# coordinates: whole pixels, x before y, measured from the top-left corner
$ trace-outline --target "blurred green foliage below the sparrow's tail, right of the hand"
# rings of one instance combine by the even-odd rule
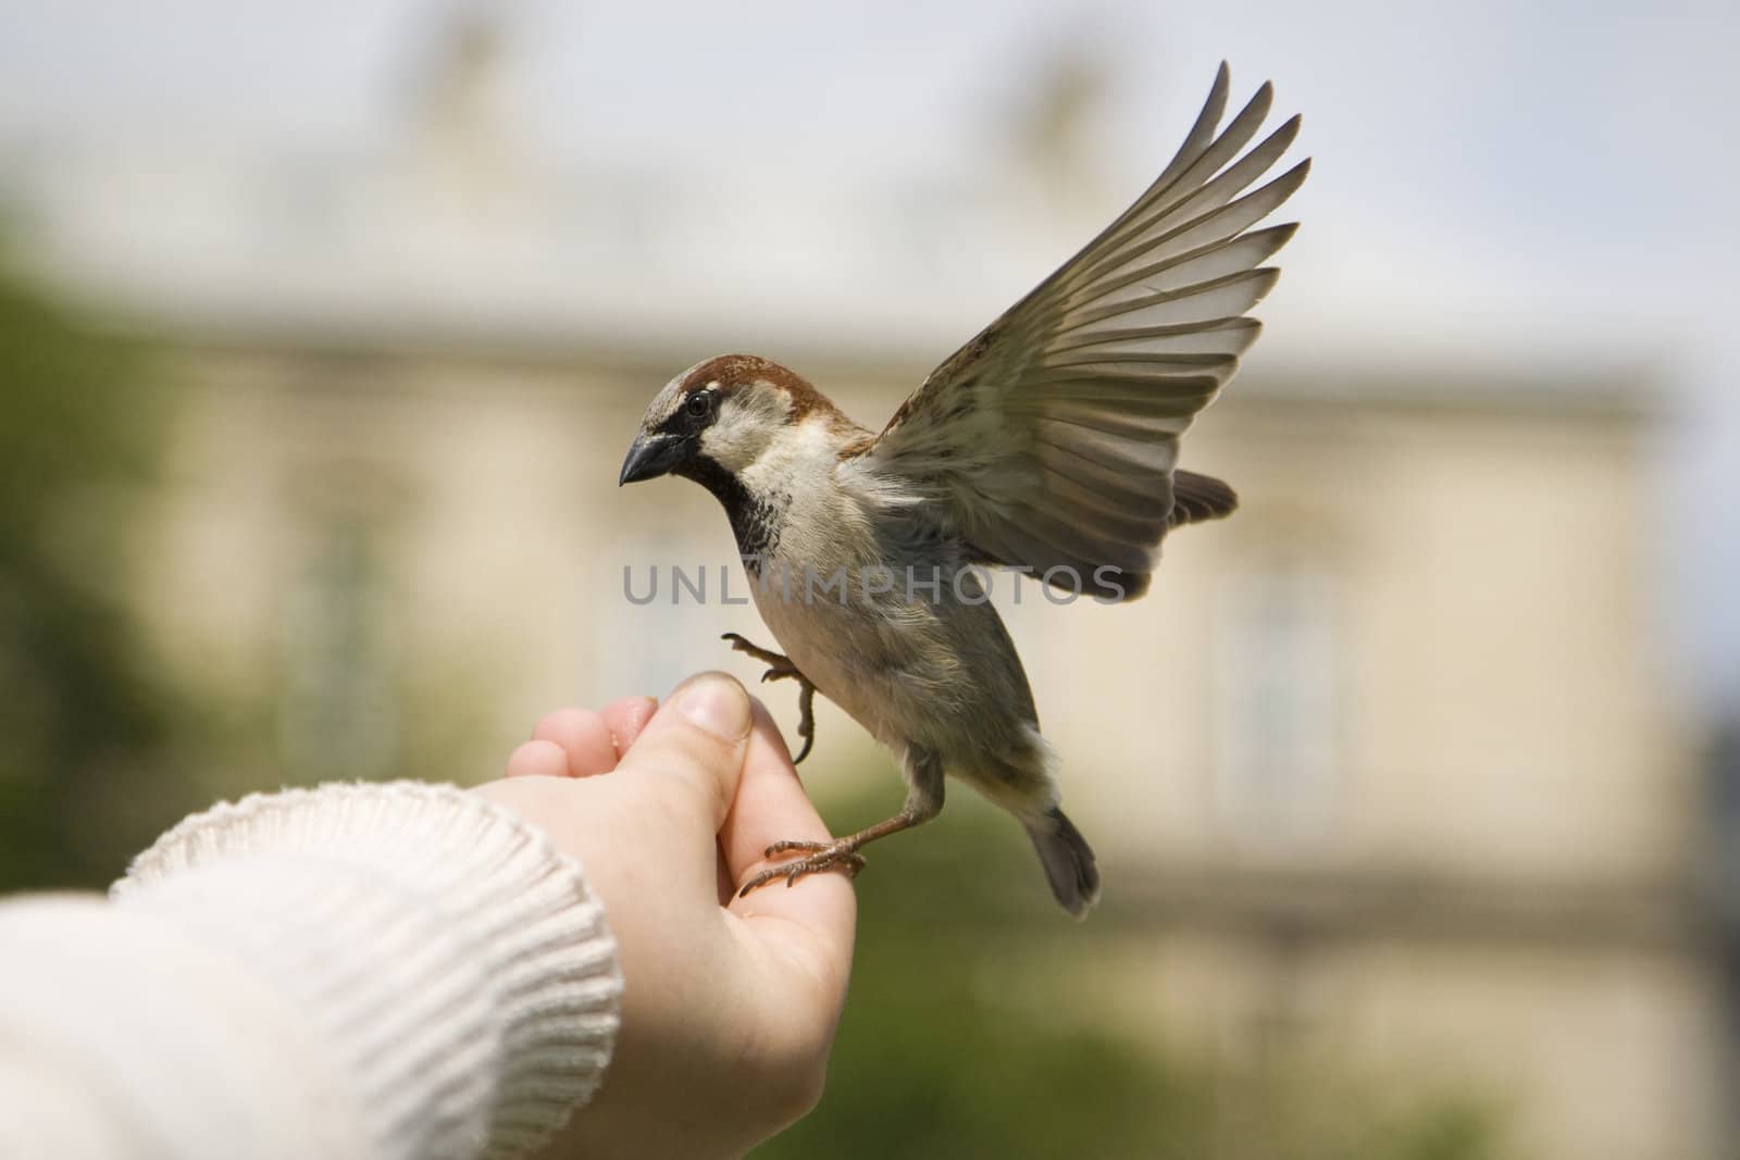
[[[1498,1118],[1479,1101],[1389,1101],[1333,1061],[1228,1073],[1086,1017],[1072,979],[1091,972],[1072,967],[1121,917],[1060,918],[1027,842],[976,807],[955,802],[934,830],[873,850],[828,1090],[757,1160],[1500,1155]],[[835,821],[875,812],[828,809]]]

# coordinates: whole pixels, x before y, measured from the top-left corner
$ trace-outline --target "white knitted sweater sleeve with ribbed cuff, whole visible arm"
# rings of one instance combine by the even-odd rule
[[[517,1157],[597,1089],[619,995],[579,866],[508,810],[256,795],[110,899],[0,904],[0,1157]]]

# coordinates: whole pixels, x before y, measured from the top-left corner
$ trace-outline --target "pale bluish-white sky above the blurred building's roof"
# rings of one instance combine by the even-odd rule
[[[0,0],[0,141],[367,148],[432,0]],[[1286,350],[1641,369],[1660,393],[1660,616],[1686,694],[1740,713],[1740,14],[1719,3],[583,3],[503,0],[508,123],[572,163],[696,183],[762,160],[971,170],[1060,45],[1103,61],[1094,144],[1134,193],[1220,59],[1305,113]],[[1115,207],[1114,207],[1115,209]],[[1265,346],[1267,346],[1265,339]]]

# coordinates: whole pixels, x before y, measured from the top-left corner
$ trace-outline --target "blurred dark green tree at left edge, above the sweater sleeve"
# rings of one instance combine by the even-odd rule
[[[193,803],[118,597],[162,403],[139,351],[0,261],[0,889],[106,883]]]

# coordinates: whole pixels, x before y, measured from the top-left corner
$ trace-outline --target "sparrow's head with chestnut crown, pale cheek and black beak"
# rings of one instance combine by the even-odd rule
[[[665,384],[640,419],[618,483],[659,475],[708,482],[736,477],[783,428],[839,412],[816,388],[776,362],[719,355]]]

